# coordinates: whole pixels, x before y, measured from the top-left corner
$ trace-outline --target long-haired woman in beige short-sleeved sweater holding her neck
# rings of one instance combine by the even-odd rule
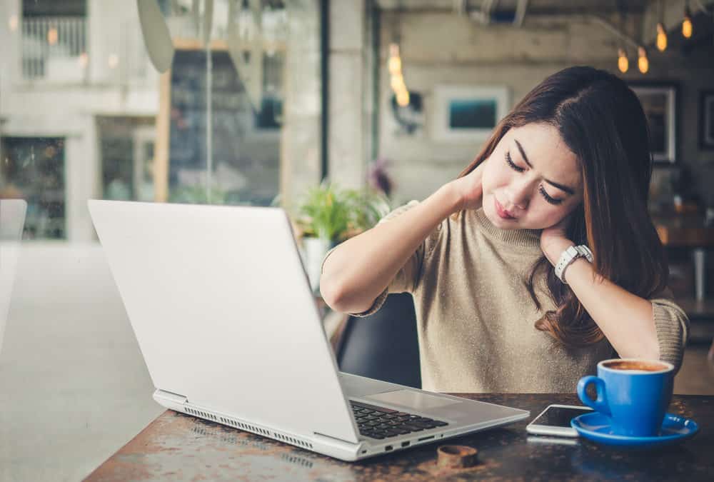
[[[458,179],[328,253],[323,297],[366,316],[412,293],[426,390],[572,392],[614,356],[678,369],[688,319],[665,288],[651,171],[633,91],[565,69]]]

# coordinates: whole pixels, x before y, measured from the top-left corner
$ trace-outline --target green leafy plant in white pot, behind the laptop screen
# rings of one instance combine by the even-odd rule
[[[370,229],[388,212],[386,197],[375,191],[341,189],[328,181],[308,189],[298,207],[296,225],[313,291],[318,291],[327,251]]]

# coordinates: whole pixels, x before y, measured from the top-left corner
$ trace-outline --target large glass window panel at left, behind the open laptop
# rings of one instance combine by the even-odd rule
[[[210,3],[0,5],[2,480],[84,478],[162,411],[89,199],[268,206],[319,181],[321,2],[215,0],[208,35]]]

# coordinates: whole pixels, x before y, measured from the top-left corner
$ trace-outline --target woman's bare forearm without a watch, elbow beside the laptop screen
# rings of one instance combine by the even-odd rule
[[[457,209],[458,196],[446,184],[400,216],[342,243],[323,266],[326,303],[350,313],[370,308],[426,236]]]

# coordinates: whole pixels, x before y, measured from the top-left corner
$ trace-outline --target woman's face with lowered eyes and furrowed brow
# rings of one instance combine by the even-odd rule
[[[575,154],[549,124],[510,129],[486,159],[483,212],[501,229],[545,229],[583,201]]]

